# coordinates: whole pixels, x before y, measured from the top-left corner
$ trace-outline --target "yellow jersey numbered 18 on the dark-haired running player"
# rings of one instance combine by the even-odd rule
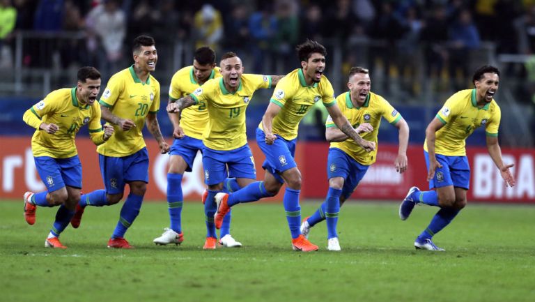
[[[300,121],[319,100],[325,107],[336,104],[334,89],[327,77],[322,75],[319,83],[307,86],[301,68],[288,73],[277,83],[270,100],[281,107],[281,112],[273,119],[272,133],[286,140],[295,139]],[[262,122],[258,127],[264,130]]]

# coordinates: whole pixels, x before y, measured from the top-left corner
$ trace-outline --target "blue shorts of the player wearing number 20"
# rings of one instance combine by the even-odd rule
[[[99,154],[98,160],[107,194],[124,192],[125,184],[130,181],[148,183],[148,151],[146,147],[130,156],[120,158]]]

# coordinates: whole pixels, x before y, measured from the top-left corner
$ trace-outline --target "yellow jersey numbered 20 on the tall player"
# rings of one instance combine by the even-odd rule
[[[160,110],[160,83],[152,75],[141,82],[134,66],[130,66],[109,79],[99,103],[119,118],[134,121],[136,126],[123,131],[120,126],[112,125],[114,135],[106,144],[98,146],[97,152],[111,157],[130,156],[146,146],[141,130],[147,114]]]

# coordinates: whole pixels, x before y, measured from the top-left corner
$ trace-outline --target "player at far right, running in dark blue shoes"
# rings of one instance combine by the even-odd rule
[[[399,207],[399,217],[406,220],[415,204],[438,206],[424,232],[414,241],[417,249],[444,250],[431,241],[433,236],[449,225],[459,211],[466,206],[466,192],[470,187],[470,166],[466,158],[466,138],[475,128],[485,127],[486,143],[490,158],[499,169],[506,186],[514,186],[515,179],[509,171],[513,164],[504,165],[498,144],[498,128],[501,113],[493,99],[499,84],[499,70],[494,66],[482,66],[472,77],[474,89],[453,94],[426,129],[424,155],[428,168],[429,188],[420,191],[410,188]]]

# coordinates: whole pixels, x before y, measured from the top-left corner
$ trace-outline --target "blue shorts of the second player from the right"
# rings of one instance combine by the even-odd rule
[[[348,199],[352,192],[357,188],[359,182],[368,171],[370,166],[362,165],[355,158],[340,149],[329,149],[327,158],[327,179],[342,177],[343,182],[342,196]]]

